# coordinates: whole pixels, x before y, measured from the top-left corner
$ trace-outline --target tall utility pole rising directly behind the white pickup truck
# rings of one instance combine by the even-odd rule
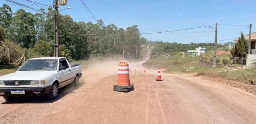
[[[54,30],[54,57],[59,56],[59,41],[58,41],[58,0],[54,0],[55,11],[55,30]]]

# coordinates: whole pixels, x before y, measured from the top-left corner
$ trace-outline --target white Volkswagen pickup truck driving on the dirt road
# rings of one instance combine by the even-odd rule
[[[0,77],[0,96],[6,100],[24,95],[55,99],[61,87],[78,86],[81,76],[81,65],[70,65],[63,57],[29,59],[15,73]]]

